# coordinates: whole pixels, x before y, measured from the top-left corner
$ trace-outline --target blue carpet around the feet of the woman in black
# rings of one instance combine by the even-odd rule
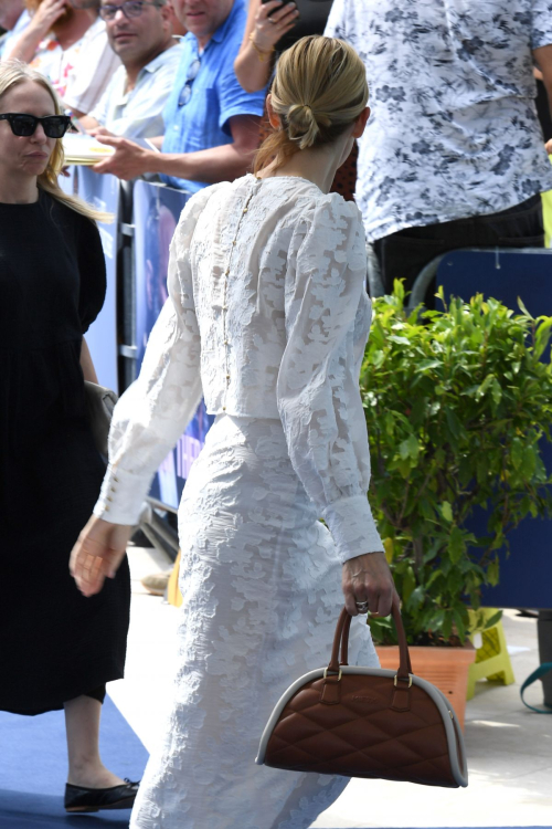
[[[148,753],[108,696],[102,713],[100,752],[112,772],[140,779]],[[0,829],[128,826],[128,809],[67,815],[63,808],[66,776],[62,711],[34,717],[0,712]]]

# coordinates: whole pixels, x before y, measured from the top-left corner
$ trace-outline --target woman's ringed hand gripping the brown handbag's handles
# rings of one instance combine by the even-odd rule
[[[343,564],[341,579],[346,608],[359,615],[355,602],[368,602],[372,616],[389,616],[396,596],[393,576],[383,553],[367,553]]]

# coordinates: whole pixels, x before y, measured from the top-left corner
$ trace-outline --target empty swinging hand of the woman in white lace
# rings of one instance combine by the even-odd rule
[[[70,559],[70,573],[84,596],[94,596],[106,578],[115,578],[131,534],[132,527],[126,524],[109,524],[92,516]]]

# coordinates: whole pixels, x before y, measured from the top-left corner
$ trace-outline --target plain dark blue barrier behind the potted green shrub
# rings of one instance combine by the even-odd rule
[[[469,300],[476,293],[492,296],[519,313],[518,296],[533,316],[552,315],[552,251],[452,251],[439,263],[437,286],[445,298]],[[440,303],[437,307],[442,308]],[[552,473],[552,444],[541,451]],[[477,511],[469,528],[487,535],[487,516]],[[510,556],[500,556],[500,584],[485,588],[487,607],[552,607],[552,521],[526,518],[509,536]]]

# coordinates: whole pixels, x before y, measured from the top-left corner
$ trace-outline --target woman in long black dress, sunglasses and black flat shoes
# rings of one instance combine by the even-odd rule
[[[64,709],[65,807],[96,811],[136,795],[98,753],[105,683],[124,672],[130,580],[125,563],[91,601],[67,568],[105,472],[85,417],[84,378],[96,378],[83,334],[106,277],[99,214],[57,186],[61,112],[41,75],[0,64],[0,709]]]

